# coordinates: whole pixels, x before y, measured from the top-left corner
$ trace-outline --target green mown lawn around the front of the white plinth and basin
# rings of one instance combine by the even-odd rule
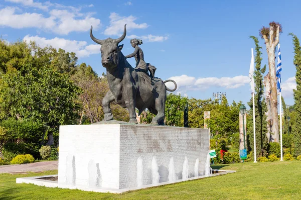
[[[0,174],[0,199],[300,199],[301,162],[237,163],[213,168],[235,173],[141,189],[123,194],[85,192],[17,184],[17,177],[55,174]]]

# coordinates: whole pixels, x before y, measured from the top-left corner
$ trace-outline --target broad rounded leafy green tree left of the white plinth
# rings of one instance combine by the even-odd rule
[[[25,65],[3,76],[0,118],[13,117],[43,124],[48,136],[47,144],[52,145],[53,133],[58,132],[59,125],[75,123],[79,110],[75,99],[79,93],[80,89],[67,74],[47,67],[37,69]]]

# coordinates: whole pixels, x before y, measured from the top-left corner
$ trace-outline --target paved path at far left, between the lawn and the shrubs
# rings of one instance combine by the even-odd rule
[[[58,169],[58,161],[35,162],[29,164],[2,165],[0,173],[40,172]]]

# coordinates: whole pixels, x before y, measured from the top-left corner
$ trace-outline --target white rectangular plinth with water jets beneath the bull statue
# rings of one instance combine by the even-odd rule
[[[124,189],[202,176],[209,144],[209,129],[60,126],[58,186]]]

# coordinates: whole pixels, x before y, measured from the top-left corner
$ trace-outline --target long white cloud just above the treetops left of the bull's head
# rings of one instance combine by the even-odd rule
[[[30,41],[36,41],[36,43],[41,47],[52,46],[56,49],[64,49],[66,52],[74,52],[79,58],[100,53],[101,47],[101,45],[97,44],[87,45],[86,41],[67,40],[57,37],[53,39],[46,39],[39,36],[27,35],[23,40],[27,41],[28,43]]]

